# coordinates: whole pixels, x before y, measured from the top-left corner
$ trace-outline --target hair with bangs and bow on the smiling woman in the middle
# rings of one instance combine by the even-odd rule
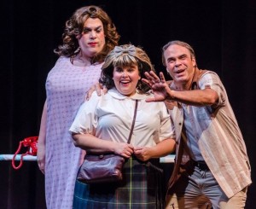
[[[113,82],[113,68],[131,67],[134,65],[138,67],[141,78],[146,78],[144,75],[145,72],[154,71],[154,66],[143,49],[131,44],[115,47],[107,55],[102,65],[102,75],[99,82],[105,85],[108,90],[112,89],[115,86]],[[149,87],[140,79],[137,83],[137,90],[146,93]]]

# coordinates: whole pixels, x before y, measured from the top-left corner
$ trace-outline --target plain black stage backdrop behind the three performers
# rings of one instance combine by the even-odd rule
[[[0,154],[14,154],[20,140],[37,136],[45,100],[44,82],[57,57],[64,22],[75,9],[102,6],[121,35],[120,44],[140,45],[157,71],[166,72],[161,46],[173,39],[195,48],[200,68],[219,74],[230,97],[255,180],[256,2],[244,0],[108,0],[1,2]],[[0,208],[45,208],[44,175],[36,162],[15,171],[0,161]],[[248,189],[247,208],[254,208],[256,189]]]

